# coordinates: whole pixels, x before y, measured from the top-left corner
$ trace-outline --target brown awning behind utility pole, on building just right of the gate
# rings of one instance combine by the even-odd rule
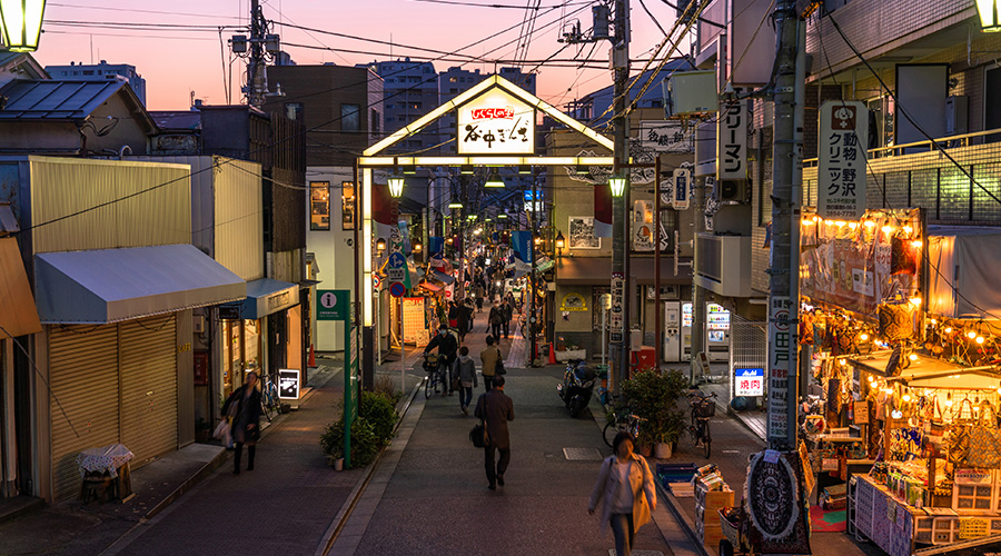
[[[684,266],[677,269],[674,276],[674,258],[661,257],[661,285],[691,284],[691,259],[681,260]],[[654,282],[653,257],[633,256],[630,259],[630,275],[640,285],[653,285]],[[611,257],[561,257],[556,261],[556,284],[566,286],[607,286],[612,282]]]

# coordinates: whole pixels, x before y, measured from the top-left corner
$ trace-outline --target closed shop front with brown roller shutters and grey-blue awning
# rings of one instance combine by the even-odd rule
[[[239,299],[246,282],[190,245],[47,252],[34,269],[51,388],[36,494],[78,496],[88,448],[122,444],[135,468],[194,441],[191,309]]]

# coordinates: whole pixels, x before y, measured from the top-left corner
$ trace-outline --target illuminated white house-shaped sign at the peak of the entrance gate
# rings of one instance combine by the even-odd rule
[[[499,87],[456,109],[459,155],[534,155],[535,107]]]

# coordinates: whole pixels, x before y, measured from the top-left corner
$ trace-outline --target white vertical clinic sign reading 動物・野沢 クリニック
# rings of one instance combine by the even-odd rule
[[[829,100],[820,109],[816,212],[859,220],[865,212],[865,145],[869,111],[853,100]]]

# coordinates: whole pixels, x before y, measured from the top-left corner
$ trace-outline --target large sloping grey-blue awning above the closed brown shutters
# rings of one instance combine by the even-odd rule
[[[107,324],[236,301],[247,284],[192,245],[34,256],[44,324]]]

